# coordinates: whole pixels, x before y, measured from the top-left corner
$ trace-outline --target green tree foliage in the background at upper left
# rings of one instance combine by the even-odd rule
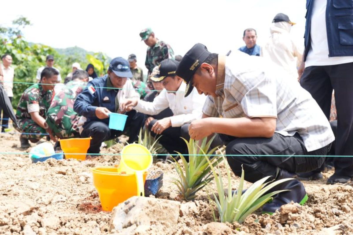
[[[45,66],[46,56],[53,55],[55,58],[54,67],[60,70],[62,82],[68,73],[71,72],[72,63],[80,63],[83,69],[89,64],[88,58],[82,54],[71,53],[70,55],[59,54],[56,49],[42,44],[28,43],[22,36],[24,27],[30,25],[30,21],[26,17],[19,17],[12,21],[13,26],[2,27],[0,25],[0,55],[10,54],[13,62],[12,66],[15,70],[14,82],[27,82],[29,84],[15,83],[13,86],[12,106],[17,107],[19,98],[25,89],[31,86],[30,83],[37,82],[37,69]],[[97,74],[107,72],[110,58],[99,52],[92,55],[96,60],[101,60],[103,69]]]

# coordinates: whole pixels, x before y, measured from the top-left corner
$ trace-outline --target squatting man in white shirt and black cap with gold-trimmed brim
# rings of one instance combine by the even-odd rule
[[[162,135],[159,142],[169,154],[175,154],[175,151],[188,153],[187,146],[180,137],[190,139],[189,125],[193,120],[201,118],[202,106],[206,99],[205,95],[198,94],[196,89],[190,96],[184,97],[186,84],[183,79],[175,76],[178,64],[176,60],[166,59],[154,68],[154,75],[150,79],[154,82],[162,81],[164,89],[153,102],[127,99],[121,104],[122,110],[133,108],[147,115],[156,115],[168,107],[172,110],[173,116],[154,119],[148,124],[153,136]]]

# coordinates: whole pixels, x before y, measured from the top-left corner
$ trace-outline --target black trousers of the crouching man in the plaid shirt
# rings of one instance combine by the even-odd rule
[[[307,152],[299,134],[283,136],[275,133],[271,138],[237,138],[220,135],[226,144],[227,161],[234,174],[245,171],[245,180],[255,182],[266,176],[276,177],[278,168],[292,173],[309,172],[321,167],[325,161],[328,146]],[[229,156],[240,155],[240,156]],[[248,156],[241,156],[248,155]],[[255,156],[282,155],[282,156]],[[295,155],[321,155],[302,157]]]

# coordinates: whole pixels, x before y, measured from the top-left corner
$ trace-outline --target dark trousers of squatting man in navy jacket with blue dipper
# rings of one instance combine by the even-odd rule
[[[138,133],[144,124],[145,115],[143,113],[138,113],[135,110],[127,112],[126,115],[128,117],[123,131],[109,129],[107,124],[100,121],[85,123],[81,137],[92,137],[90,148],[87,153],[99,153],[102,142],[121,136],[127,129],[130,130],[128,143],[137,141]]]

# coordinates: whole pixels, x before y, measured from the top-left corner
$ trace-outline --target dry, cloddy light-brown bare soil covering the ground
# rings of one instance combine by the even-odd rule
[[[1,134],[0,141],[0,234],[112,233],[110,213],[101,209],[90,168],[119,164],[119,156],[32,163],[26,154],[30,149],[19,148],[19,135]],[[119,153],[121,147],[116,144],[102,153]],[[164,177],[156,198],[174,200],[178,192],[170,183],[171,178],[177,177],[173,166],[157,162],[151,170],[157,169],[163,171]],[[352,183],[325,184],[332,173],[325,172],[323,180],[304,183],[309,200],[299,206],[297,213],[276,212],[270,216],[258,211],[243,224],[210,224],[213,204],[207,194],[215,191],[211,183],[198,193],[197,211],[180,216],[175,226],[151,225],[143,233],[126,230],[120,234],[353,234]],[[232,175],[233,189],[238,182],[239,178]]]

